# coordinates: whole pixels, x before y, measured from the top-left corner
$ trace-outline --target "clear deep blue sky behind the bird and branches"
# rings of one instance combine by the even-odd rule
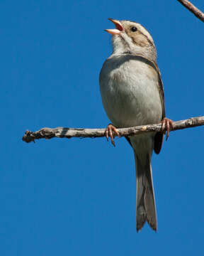
[[[194,0],[204,11],[203,0]],[[152,168],[158,232],[135,227],[135,164],[125,139],[26,144],[26,129],[106,127],[98,74],[108,17],[154,38],[166,115],[203,115],[204,24],[178,1],[0,3],[0,254],[202,255],[203,127],[171,132]]]

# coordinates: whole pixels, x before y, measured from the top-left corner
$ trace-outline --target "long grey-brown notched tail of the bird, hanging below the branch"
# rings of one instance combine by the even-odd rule
[[[154,188],[152,181],[151,156],[147,154],[142,158],[135,153],[135,165],[137,176],[137,232],[141,230],[145,221],[157,231],[157,214],[154,203]]]

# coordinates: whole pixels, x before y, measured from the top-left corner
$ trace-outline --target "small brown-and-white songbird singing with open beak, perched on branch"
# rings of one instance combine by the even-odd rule
[[[159,154],[164,132],[169,137],[173,127],[165,117],[164,90],[157,67],[157,51],[149,32],[139,23],[109,18],[115,29],[112,35],[113,53],[100,73],[103,107],[112,124],[108,124],[106,138],[119,135],[117,128],[135,127],[162,122],[161,132],[126,137],[135,154],[137,177],[137,231],[146,220],[157,230],[157,214],[152,182],[152,151]]]

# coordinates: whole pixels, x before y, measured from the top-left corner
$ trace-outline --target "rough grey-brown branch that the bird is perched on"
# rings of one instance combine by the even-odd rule
[[[178,129],[186,129],[191,127],[198,127],[204,125],[204,117],[192,117],[186,120],[176,121],[174,122],[174,129],[171,131],[176,131]],[[133,136],[142,133],[148,132],[160,132],[161,131],[161,123],[160,124],[149,124],[143,125],[139,127],[129,127],[129,128],[121,128],[118,129],[120,137],[123,136]],[[52,139],[54,137],[57,138],[67,138],[70,139],[72,137],[81,137],[81,138],[96,138],[96,137],[105,137],[106,129],[85,129],[85,128],[42,128],[37,132],[26,131],[23,135],[23,142],[35,142],[35,139]]]

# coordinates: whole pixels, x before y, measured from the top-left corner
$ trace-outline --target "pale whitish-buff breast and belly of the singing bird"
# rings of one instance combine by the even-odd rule
[[[100,90],[103,107],[116,127],[162,120],[158,73],[134,55],[111,55],[103,64]]]

